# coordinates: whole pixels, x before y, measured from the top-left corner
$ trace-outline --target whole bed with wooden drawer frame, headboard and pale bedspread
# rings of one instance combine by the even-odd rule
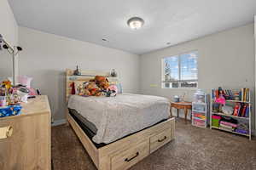
[[[118,94],[116,97],[71,95],[70,84],[108,72],[67,70],[67,122],[99,170],[124,170],[174,139],[175,122],[167,99]],[[108,77],[110,82],[117,78]]]

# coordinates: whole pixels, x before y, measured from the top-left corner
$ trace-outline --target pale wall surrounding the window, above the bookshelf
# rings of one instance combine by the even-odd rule
[[[141,93],[166,96],[186,93],[191,100],[195,91],[163,89],[161,58],[192,50],[199,51],[199,88],[210,92],[211,88],[251,88],[254,94],[254,44],[253,24],[222,31],[191,42],[184,42],[141,56]],[[150,87],[156,85],[157,87]],[[252,99],[253,96],[252,96]]]

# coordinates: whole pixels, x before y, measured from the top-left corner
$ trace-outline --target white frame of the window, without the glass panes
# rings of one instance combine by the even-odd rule
[[[180,59],[180,57],[181,57],[181,55],[183,55],[183,54],[190,54],[190,53],[193,53],[193,52],[196,52],[196,54],[197,54],[197,79],[196,80],[180,80],[181,79],[181,59]],[[166,88],[165,87],[165,68],[166,68],[166,66],[165,66],[165,59],[166,58],[169,58],[169,57],[177,57],[178,59],[178,81],[169,81],[170,83],[171,82],[178,82],[178,88]],[[198,72],[199,72],[199,69],[198,69],[198,58],[199,58],[199,50],[198,49],[195,49],[195,50],[190,50],[189,52],[184,52],[184,53],[180,53],[180,54],[173,54],[173,55],[171,55],[171,56],[169,56],[169,57],[162,57],[161,58],[161,88],[165,88],[165,89],[191,89],[191,90],[196,90],[197,88],[198,88],[198,85],[199,85],[199,81],[198,81]],[[191,88],[191,87],[189,87],[189,88],[186,88],[186,87],[181,87],[181,82],[197,82],[197,86],[196,86],[196,88]]]

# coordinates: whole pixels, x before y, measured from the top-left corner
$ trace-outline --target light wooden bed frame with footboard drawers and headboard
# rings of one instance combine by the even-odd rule
[[[88,81],[96,75],[109,77],[108,72],[82,71],[83,76],[73,76],[73,71],[67,69],[67,99],[71,94],[70,84],[75,81]],[[117,78],[109,77],[110,82]],[[67,111],[67,122],[73,127],[98,170],[125,170],[143,160],[155,150],[174,139],[175,120],[169,118],[153,127],[148,127],[138,133],[131,134],[111,144],[96,148],[95,144],[84,133],[83,129]]]

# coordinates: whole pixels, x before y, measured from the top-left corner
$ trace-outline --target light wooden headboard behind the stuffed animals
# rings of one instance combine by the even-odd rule
[[[118,77],[110,77],[110,71],[81,71],[81,76],[74,76],[73,70],[67,69],[66,70],[66,99],[71,95],[72,88],[70,85],[73,82],[82,81],[87,82],[93,79],[96,76],[104,76],[108,77],[108,81],[111,83],[117,83],[119,82]]]

